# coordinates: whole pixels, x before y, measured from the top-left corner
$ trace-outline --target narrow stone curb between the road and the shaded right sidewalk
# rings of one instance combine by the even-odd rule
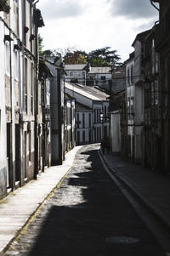
[[[132,184],[130,184],[120,174],[117,174],[116,171],[114,170],[114,168],[111,168],[109,163],[106,161],[105,156],[103,155],[101,149],[99,149],[99,155],[102,157],[103,161],[105,162],[105,165],[110,170],[111,174],[113,174],[116,177],[116,179],[118,179],[120,182],[122,182],[122,184],[125,185],[127,187],[127,189],[133,193],[134,196],[137,196],[138,199],[140,200],[140,202],[142,202],[144,204],[144,206],[146,208],[148,208],[152,214],[155,215],[156,219],[158,219],[158,221],[161,222],[161,225],[163,225],[169,231],[170,230],[170,220],[167,219],[167,216],[165,216],[161,212],[161,210],[156,208],[156,206],[154,206],[147,199],[145,199],[144,196],[142,196],[139,193],[139,191],[135,190]]]

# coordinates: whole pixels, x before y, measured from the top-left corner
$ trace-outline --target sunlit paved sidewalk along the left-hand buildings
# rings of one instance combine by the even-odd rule
[[[0,255],[3,255],[9,243],[65,177],[80,148],[81,146],[77,146],[69,151],[65,155],[63,165],[48,168],[38,175],[36,180],[32,180],[0,201]]]

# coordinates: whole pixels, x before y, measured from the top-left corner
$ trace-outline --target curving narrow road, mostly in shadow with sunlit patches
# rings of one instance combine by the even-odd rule
[[[73,168],[7,255],[161,256],[163,249],[100,162],[96,145]]]

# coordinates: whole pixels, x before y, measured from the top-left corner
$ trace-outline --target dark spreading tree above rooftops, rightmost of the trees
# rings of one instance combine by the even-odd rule
[[[92,66],[117,65],[121,60],[116,54],[116,50],[110,50],[111,47],[98,48],[88,53],[88,62]]]

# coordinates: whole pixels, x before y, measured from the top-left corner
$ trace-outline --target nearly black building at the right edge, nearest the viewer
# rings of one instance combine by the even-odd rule
[[[160,56],[160,120],[161,120],[161,150],[159,160],[161,172],[170,171],[170,2],[166,0],[152,0],[151,3],[159,3],[159,23],[156,26],[155,48]],[[156,8],[157,9],[157,8]]]

